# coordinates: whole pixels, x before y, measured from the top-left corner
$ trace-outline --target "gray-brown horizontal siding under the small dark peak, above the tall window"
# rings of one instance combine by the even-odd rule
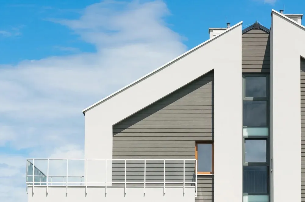
[[[270,72],[270,38],[264,30],[242,34],[242,72]]]

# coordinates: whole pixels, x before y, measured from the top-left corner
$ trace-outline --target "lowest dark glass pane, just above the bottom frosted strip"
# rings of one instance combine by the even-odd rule
[[[248,194],[268,193],[267,166],[244,166],[243,192]]]

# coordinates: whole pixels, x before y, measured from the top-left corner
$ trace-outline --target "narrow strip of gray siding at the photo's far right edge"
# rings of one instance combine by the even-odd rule
[[[305,60],[301,58],[301,172],[302,201],[305,201]]]

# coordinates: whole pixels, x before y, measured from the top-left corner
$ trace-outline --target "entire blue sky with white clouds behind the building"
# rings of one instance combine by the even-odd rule
[[[25,158],[83,158],[81,111],[209,38],[304,1],[0,0],[0,198],[27,201]]]

